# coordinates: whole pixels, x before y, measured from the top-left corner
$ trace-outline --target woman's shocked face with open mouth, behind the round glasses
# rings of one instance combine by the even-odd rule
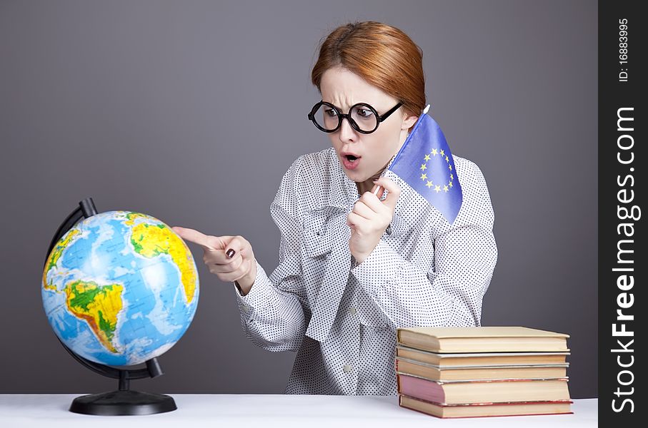
[[[332,103],[342,113],[348,113],[354,104],[367,103],[382,116],[399,103],[396,98],[342,67],[325,71],[319,87],[322,101]],[[356,183],[362,183],[382,173],[404,143],[407,130],[416,121],[417,116],[407,116],[400,107],[373,133],[359,133],[347,119],[343,119],[342,126],[328,135],[344,173]]]

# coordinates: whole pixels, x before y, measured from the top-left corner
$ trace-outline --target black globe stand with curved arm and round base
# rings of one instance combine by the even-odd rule
[[[86,198],[79,202],[79,208],[67,216],[65,221],[61,223],[59,229],[56,230],[54,238],[52,238],[45,256],[45,263],[54,248],[54,245],[65,235],[68,230],[72,228],[81,218],[89,218],[96,215],[97,210],[94,206],[92,198]],[[58,337],[58,336],[57,336]],[[61,339],[59,338],[59,342]],[[100,394],[88,394],[76,397],[72,400],[70,405],[70,412],[83,413],[83,414],[96,414],[101,416],[117,416],[117,415],[134,415],[134,414],[155,414],[171,412],[176,407],[176,402],[169,395],[154,394],[151,392],[132,391],[129,389],[131,379],[144,379],[145,377],[158,377],[164,374],[157,358],[151,358],[146,361],[145,369],[126,370],[117,369],[108,365],[96,363],[88,360],[81,355],[76,354],[73,350],[67,347],[63,342],[61,345],[69,354],[74,357],[76,361],[84,365],[84,367],[92,370],[102,376],[119,379],[119,389],[110,392],[101,392]]]

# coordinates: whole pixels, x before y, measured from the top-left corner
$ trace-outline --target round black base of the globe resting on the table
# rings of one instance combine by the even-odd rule
[[[111,391],[76,397],[70,412],[118,416],[172,412],[176,407],[173,397],[139,391]]]

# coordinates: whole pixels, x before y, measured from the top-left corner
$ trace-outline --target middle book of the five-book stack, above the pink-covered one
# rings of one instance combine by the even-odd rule
[[[549,379],[567,377],[567,365],[513,365],[482,367],[439,367],[396,357],[396,371],[432,380]]]

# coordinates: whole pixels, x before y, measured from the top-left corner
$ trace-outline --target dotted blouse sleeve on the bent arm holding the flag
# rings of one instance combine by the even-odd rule
[[[428,271],[381,240],[352,274],[389,319],[392,329],[414,326],[478,326],[482,298],[497,263],[494,213],[477,165],[464,186],[464,213],[434,238]]]

